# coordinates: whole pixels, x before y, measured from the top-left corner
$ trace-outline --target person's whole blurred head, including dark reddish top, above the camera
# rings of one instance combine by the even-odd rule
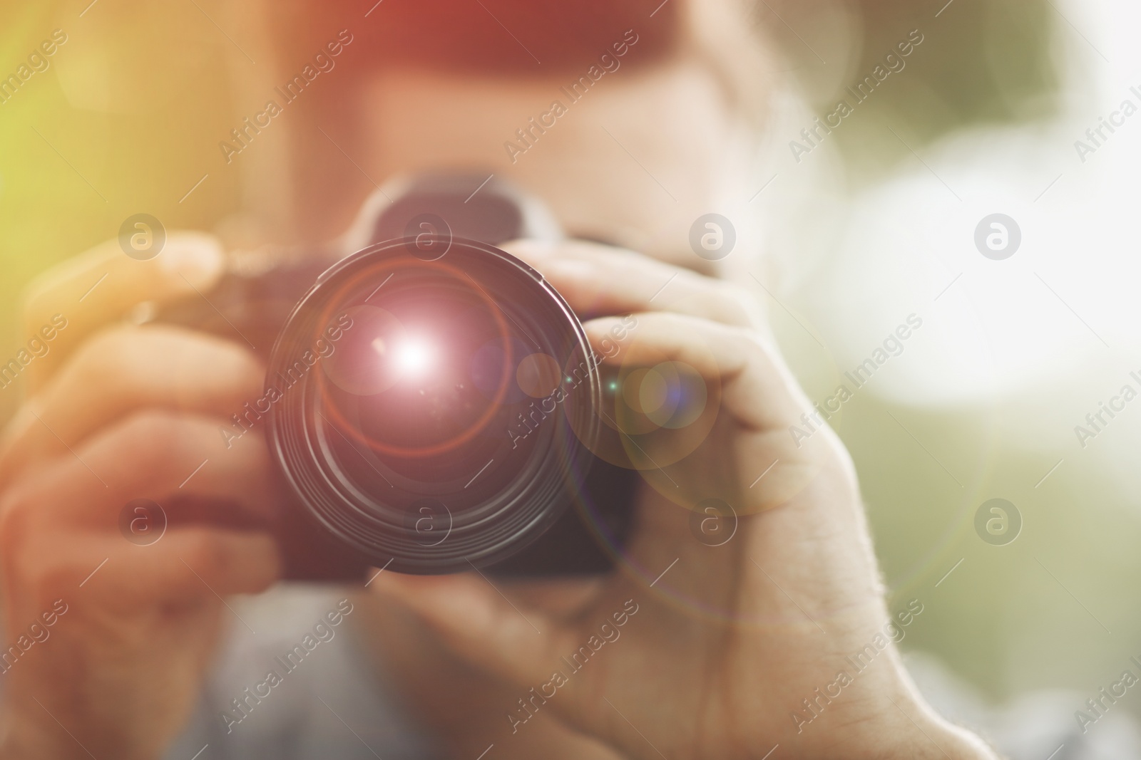
[[[334,74],[337,107],[363,121],[354,156],[377,181],[486,169],[540,195],[573,235],[705,267],[690,224],[756,188],[730,148],[744,125],[686,51],[674,5],[379,5]],[[310,47],[337,16],[313,13]]]

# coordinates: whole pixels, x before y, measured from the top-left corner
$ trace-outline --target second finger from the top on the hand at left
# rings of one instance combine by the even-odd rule
[[[145,408],[241,415],[261,397],[262,375],[249,352],[227,341],[177,327],[115,327],[81,346],[21,411],[0,456],[17,466],[57,456]]]

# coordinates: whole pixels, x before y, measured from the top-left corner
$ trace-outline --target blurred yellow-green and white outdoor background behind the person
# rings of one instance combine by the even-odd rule
[[[0,75],[51,30],[66,34],[49,68],[0,104],[5,358],[27,340],[21,289],[114,237],[127,216],[225,230],[273,205],[251,197],[241,171],[221,169],[216,145],[235,114],[251,113],[235,60],[249,48],[264,62],[269,46],[224,3],[154,2],[126,16],[112,13],[115,0],[98,2],[0,8]],[[759,297],[814,400],[848,383],[843,374],[909,316],[922,320],[830,424],[856,461],[892,606],[924,604],[903,643],[916,678],[993,738],[1022,730],[1011,726],[1025,711],[1057,718],[1020,739],[1045,758],[1057,736],[1078,732],[1085,700],[1141,655],[1141,401],[1103,415],[1100,431],[1086,422],[1124,385],[1141,392],[1130,375],[1141,377],[1141,115],[1115,117],[1123,123],[1094,132],[1097,145],[1086,134],[1124,114],[1125,100],[1141,108],[1141,9],[745,5],[746,24],[776,51],[756,72],[776,95],[759,126],[760,190],[723,213],[761,222],[769,293]],[[880,81],[876,66],[916,35],[905,65]],[[856,104],[848,88],[867,76],[874,92],[809,141],[801,130],[840,100]],[[333,150],[313,149],[315,162]],[[258,161],[273,173],[270,157],[245,164]],[[359,182],[318,190],[371,188]],[[993,214],[1019,232],[1001,260],[976,243]],[[0,422],[18,393],[0,390]],[[1081,440],[1079,425],[1097,435]],[[994,498],[1020,517],[1004,545],[976,528]],[[1141,714],[1135,697],[1068,741],[1112,736],[1141,753],[1131,714]]]

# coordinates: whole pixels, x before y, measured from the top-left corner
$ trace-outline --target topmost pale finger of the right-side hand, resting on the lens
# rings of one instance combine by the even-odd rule
[[[599,243],[515,240],[504,250],[534,267],[583,317],[672,311],[742,327],[760,311],[742,288]]]

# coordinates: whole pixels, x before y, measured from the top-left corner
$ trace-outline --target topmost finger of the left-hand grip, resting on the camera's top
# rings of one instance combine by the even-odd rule
[[[115,239],[48,270],[27,287],[24,297],[24,340],[52,335],[42,341],[47,353],[30,352],[30,387],[38,387],[91,332],[122,319],[133,305],[205,293],[221,276],[224,263],[221,245],[213,236],[171,232],[159,255],[148,261],[131,259]]]

